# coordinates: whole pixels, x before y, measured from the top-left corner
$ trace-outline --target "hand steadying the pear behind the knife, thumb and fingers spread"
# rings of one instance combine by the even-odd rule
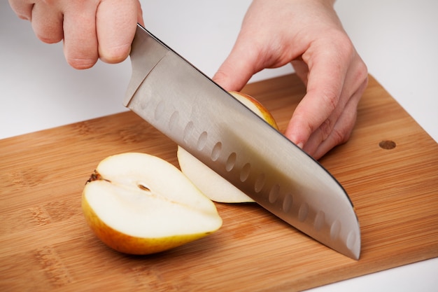
[[[241,90],[253,74],[289,62],[306,85],[285,136],[313,158],[346,142],[367,86],[367,67],[331,0],[254,0],[213,80]]]

